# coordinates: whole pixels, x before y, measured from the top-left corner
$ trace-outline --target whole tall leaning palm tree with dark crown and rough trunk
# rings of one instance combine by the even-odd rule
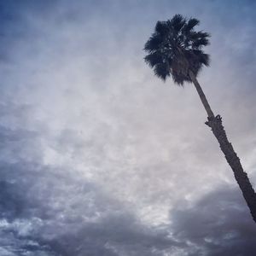
[[[195,85],[207,111],[206,124],[212,128],[256,222],[256,194],[252,184],[228,141],[221,117],[213,114],[207,97],[196,79],[201,68],[209,66],[209,55],[204,53],[202,48],[209,44],[210,35],[207,32],[195,31],[195,26],[199,25],[199,22],[192,18],[187,20],[182,15],[174,15],[171,20],[157,21],[153,34],[145,44],[144,49],[147,55],[144,60],[154,69],[154,74],[164,81],[172,76],[177,85],[183,85],[184,82]]]

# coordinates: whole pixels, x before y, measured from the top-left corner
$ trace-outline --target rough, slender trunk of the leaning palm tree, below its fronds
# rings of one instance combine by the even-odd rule
[[[232,171],[234,172],[236,182],[238,183],[241,189],[241,193],[245,201],[247,202],[247,206],[250,209],[253,220],[254,222],[256,222],[256,194],[254,192],[252,184],[250,183],[249,178],[247,177],[247,173],[243,171],[240,159],[226,136],[224,126],[222,125],[221,117],[219,115],[217,115],[216,117],[213,115],[212,109],[207,102],[207,98],[203,90],[201,89],[200,84],[195,78],[195,74],[189,71],[189,77],[192,80],[193,84],[195,84],[195,88],[201,98],[201,102],[206,108],[208,114],[208,121],[206,122],[206,125],[212,128],[212,132],[218,140],[219,146],[224,153],[225,159],[230,165]]]

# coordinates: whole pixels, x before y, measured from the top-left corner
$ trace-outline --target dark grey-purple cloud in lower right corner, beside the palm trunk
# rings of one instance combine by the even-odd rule
[[[253,255],[256,230],[241,192],[218,188],[193,207],[172,212],[173,236],[191,245],[189,255]]]

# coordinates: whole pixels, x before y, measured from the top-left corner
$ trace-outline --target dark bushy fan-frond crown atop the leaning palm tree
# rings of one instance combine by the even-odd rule
[[[148,55],[144,60],[160,79],[172,75],[175,83],[192,82],[189,72],[195,77],[203,65],[209,65],[209,55],[202,50],[209,44],[207,32],[196,32],[199,20],[174,15],[171,20],[158,21],[154,33],[145,44]]]

